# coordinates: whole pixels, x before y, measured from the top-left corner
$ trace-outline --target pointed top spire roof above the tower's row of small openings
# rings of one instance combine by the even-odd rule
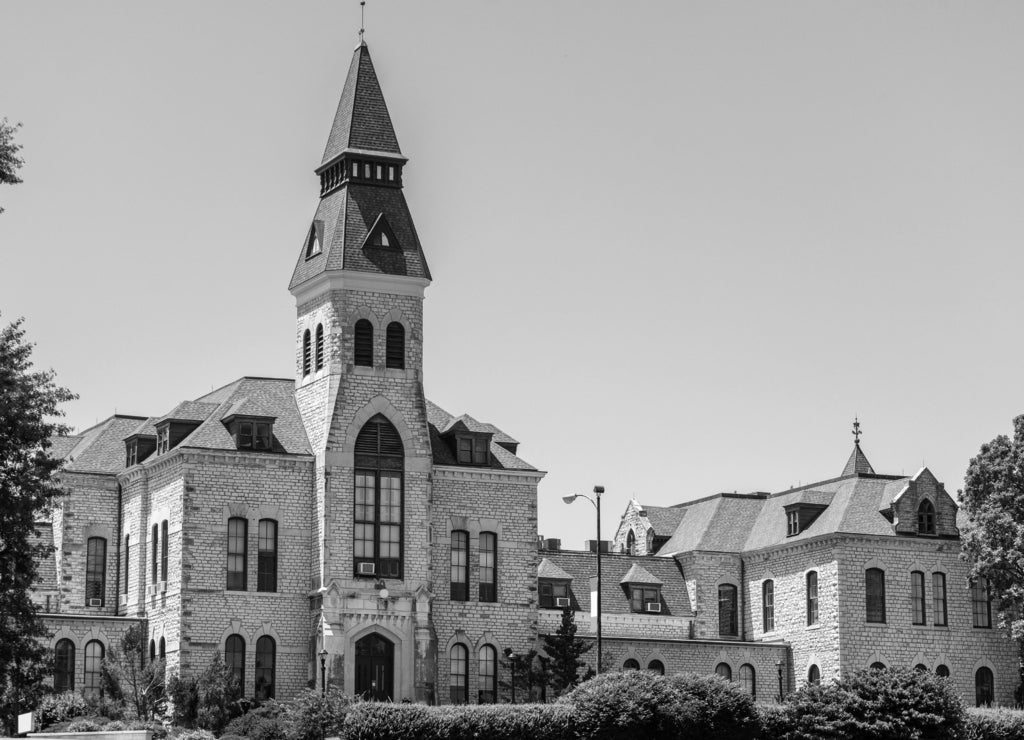
[[[326,165],[345,149],[401,156],[377,72],[370,58],[370,48],[365,42],[352,54],[352,63],[348,68],[338,113],[335,114],[321,164]]]

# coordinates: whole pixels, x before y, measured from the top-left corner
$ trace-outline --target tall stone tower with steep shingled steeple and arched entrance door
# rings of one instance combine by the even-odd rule
[[[316,454],[310,628],[316,652],[328,651],[328,683],[429,701],[430,271],[402,193],[406,163],[360,42],[289,286],[296,400]]]

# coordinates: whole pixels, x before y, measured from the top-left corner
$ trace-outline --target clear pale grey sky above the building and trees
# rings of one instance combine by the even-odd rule
[[[83,429],[292,377],[287,291],[358,4],[0,3],[0,320]],[[397,2],[367,42],[434,282],[425,384],[581,547],[1024,412],[1024,3]]]

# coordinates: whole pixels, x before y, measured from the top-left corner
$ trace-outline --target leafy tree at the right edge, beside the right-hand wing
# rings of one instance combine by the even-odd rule
[[[1001,620],[1024,655],[1024,416],[1014,438],[1000,434],[968,466],[961,509],[964,557],[971,575],[986,578]]]

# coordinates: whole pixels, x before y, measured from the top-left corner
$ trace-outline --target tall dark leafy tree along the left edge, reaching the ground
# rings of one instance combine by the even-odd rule
[[[6,125],[6,124],[4,124]],[[50,672],[48,637],[30,592],[39,558],[36,521],[60,490],[60,462],[50,437],[67,434],[60,404],[75,395],[54,384],[53,371],[34,372],[23,319],[0,331],[0,722],[13,730],[20,708]]]

